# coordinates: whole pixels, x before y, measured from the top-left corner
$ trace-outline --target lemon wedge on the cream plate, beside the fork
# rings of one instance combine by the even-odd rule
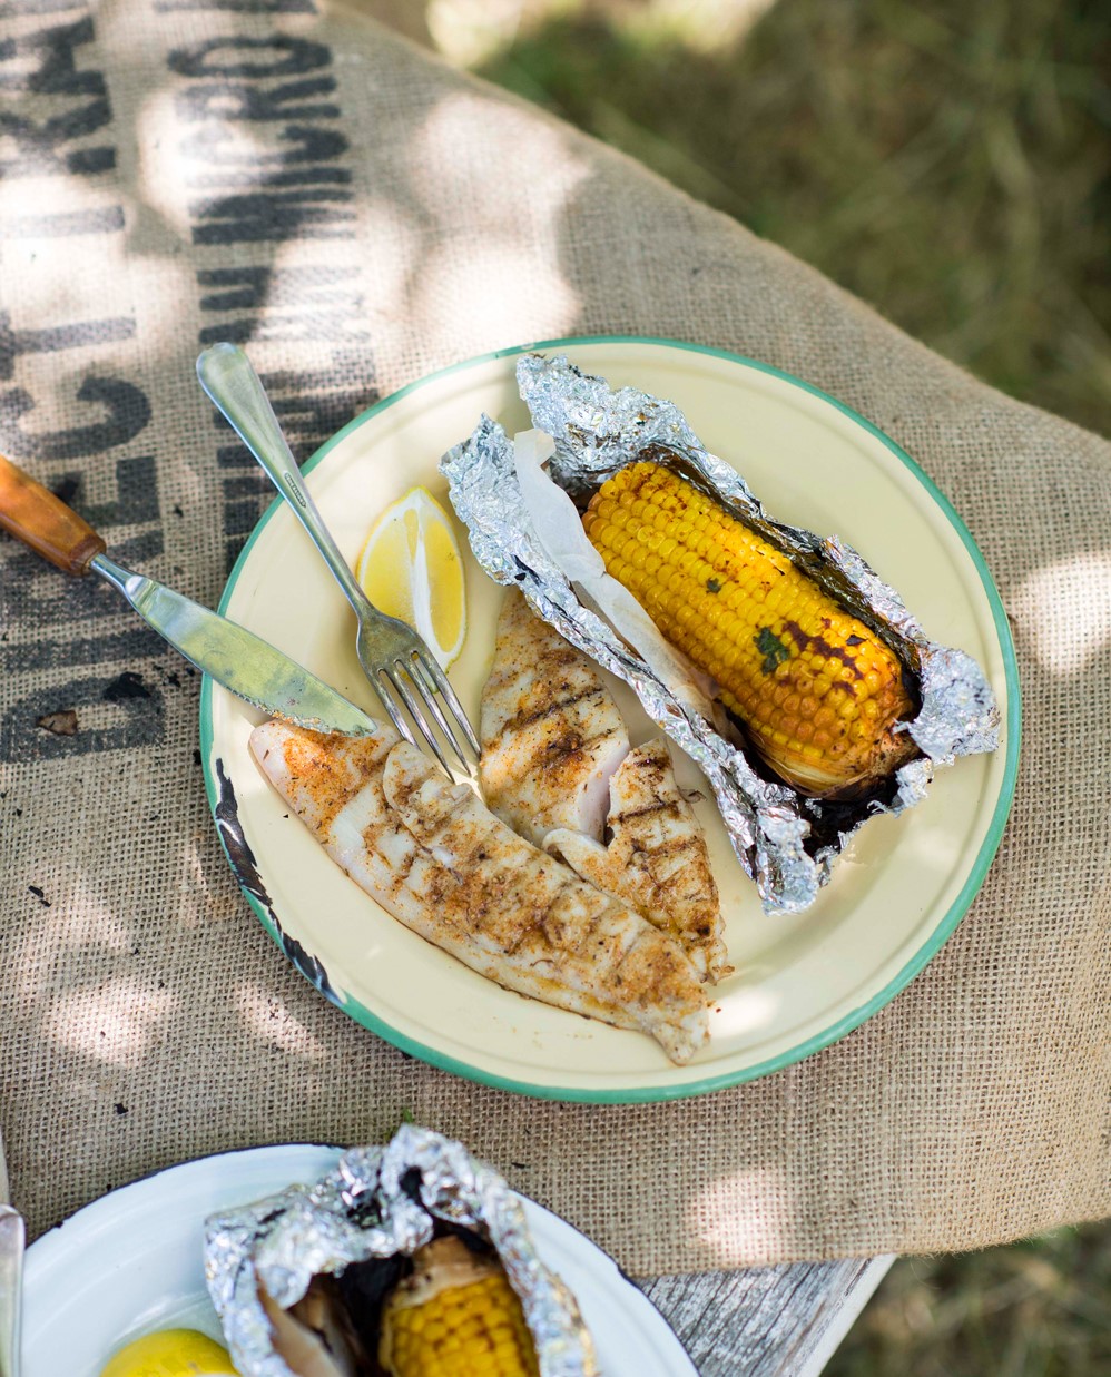
[[[355,578],[376,607],[416,628],[443,669],[458,658],[467,635],[463,555],[427,487],[410,489],[379,516]]]

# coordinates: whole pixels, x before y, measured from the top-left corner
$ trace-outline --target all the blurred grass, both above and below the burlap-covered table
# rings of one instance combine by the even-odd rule
[[[1111,6],[361,3],[1107,431]],[[1110,1297],[1111,1224],[900,1259],[827,1377],[1105,1377]]]

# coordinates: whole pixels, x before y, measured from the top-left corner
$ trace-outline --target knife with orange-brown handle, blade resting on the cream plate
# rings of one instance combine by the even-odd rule
[[[0,454],[0,526],[67,574],[99,574],[186,660],[255,708],[314,731],[366,737],[377,723],[268,642],[136,574],[88,522]],[[0,1369],[0,1377],[6,1377]]]

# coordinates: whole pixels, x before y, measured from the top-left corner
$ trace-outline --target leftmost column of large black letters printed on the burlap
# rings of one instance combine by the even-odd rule
[[[88,6],[0,0],[0,18],[65,10],[87,11]],[[0,40],[0,178],[95,176],[116,167],[114,143],[110,134],[106,136],[113,117],[109,83],[89,66],[94,41],[88,12],[69,23]],[[120,233],[123,207],[98,200],[87,204],[84,197],[50,197],[44,205],[17,196],[12,187],[0,240]],[[77,260],[56,249],[51,269],[78,271]],[[14,269],[11,281],[18,288]],[[116,558],[142,567],[164,548],[154,457],[127,453],[116,459],[116,490],[95,504],[83,500],[92,467],[83,471],[73,463],[129,445],[150,420],[146,392],[132,381],[106,376],[118,368],[117,347],[135,336],[131,315],[58,324],[52,314],[26,318],[18,310],[0,311],[0,384],[10,384],[0,387],[0,452],[33,460],[29,467],[106,537]],[[113,368],[94,364],[72,380],[59,370],[54,395],[40,391],[41,383],[17,386],[23,381],[21,359],[26,355],[56,355],[61,361],[66,350],[105,347],[113,348]],[[58,461],[69,467],[41,472],[44,463]],[[113,459],[98,463],[98,476],[102,465],[112,470]],[[102,496],[99,489],[96,496]],[[165,644],[99,578],[66,578],[12,544],[4,551],[0,627],[6,628],[0,666],[11,688],[0,722],[1,759],[34,761],[129,750],[161,739],[161,693],[145,683],[139,666],[164,655]],[[127,666],[124,676],[121,665]],[[84,673],[72,677],[78,666]],[[43,686],[43,671],[67,682]],[[37,682],[21,697],[19,676],[29,672]],[[59,712],[76,713],[73,735],[39,726],[40,719]]]

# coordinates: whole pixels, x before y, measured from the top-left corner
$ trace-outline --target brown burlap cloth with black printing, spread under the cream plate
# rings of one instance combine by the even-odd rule
[[[635,1274],[969,1249],[1111,1205],[1111,453],[731,220],[311,0],[0,6],[0,448],[215,605],[270,500],[194,380],[249,341],[299,453],[560,335],[767,359],[916,456],[1012,616],[1026,738],[980,898],[899,998],[759,1082],[538,1103],[405,1058],[281,960],[220,851],[197,676],[3,560],[3,1128],[34,1232],[204,1153],[465,1139]],[[77,731],[39,726],[65,709]]]

